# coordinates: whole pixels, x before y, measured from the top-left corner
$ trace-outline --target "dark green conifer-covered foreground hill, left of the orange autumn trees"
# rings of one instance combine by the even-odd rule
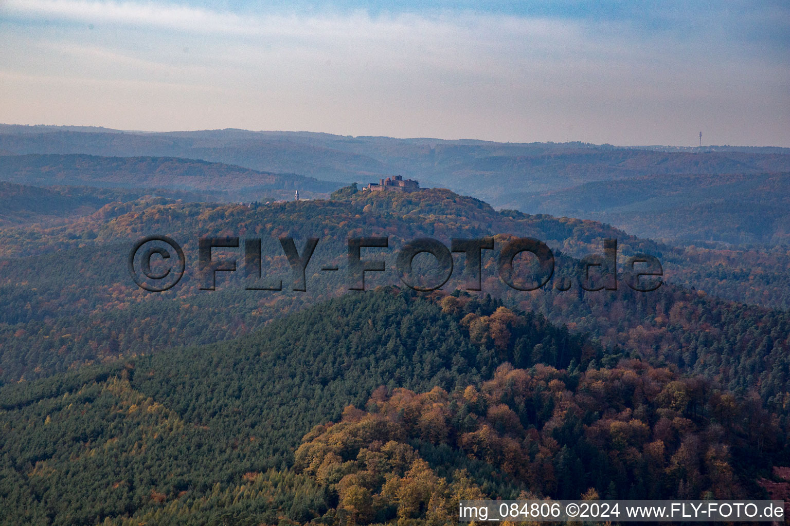
[[[470,336],[467,315],[490,328]],[[96,524],[110,510],[160,508],[159,494],[199,500],[216,483],[291,464],[302,435],[378,386],[453,390],[508,360],[579,367],[602,357],[585,337],[490,299],[442,309],[383,290],[233,341],[6,386],[0,507],[13,518],[0,521]]]

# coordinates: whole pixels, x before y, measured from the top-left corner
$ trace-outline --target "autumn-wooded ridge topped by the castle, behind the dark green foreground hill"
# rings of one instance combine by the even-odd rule
[[[790,400],[788,313],[713,296],[708,285],[721,279],[709,275],[715,267],[697,267],[702,279],[708,280],[697,282],[698,289],[665,284],[653,293],[635,293],[621,282],[616,291],[585,291],[575,274],[578,259],[567,254],[601,252],[604,237],[617,237],[621,254],[654,252],[671,280],[675,275],[683,277],[671,271],[693,262],[683,259],[685,252],[661,252],[661,245],[621,237],[599,223],[497,212],[486,203],[446,190],[386,193],[370,196],[346,188],[333,200],[257,208],[136,201],[108,206],[90,220],[69,226],[2,229],[0,246],[8,252],[0,276],[5,298],[0,309],[0,336],[5,339],[0,348],[0,380],[35,379],[94,360],[208,343],[256,330],[270,319],[348,291],[344,267],[348,237],[389,236],[389,248],[366,249],[366,257],[381,256],[392,269],[397,248],[417,237],[449,244],[451,237],[494,235],[498,250],[511,236],[529,236],[558,249],[554,281],[531,293],[510,289],[498,277],[495,250],[483,255],[483,291],[511,307],[538,311],[574,331],[594,334],[608,347],[636,351],[653,364],[704,373],[741,395],[755,390],[778,413],[790,408],[786,402]],[[128,274],[130,246],[151,233],[174,237],[188,259],[182,282],[166,293],[146,293]],[[282,279],[284,290],[245,290],[241,272],[220,276],[216,291],[200,290],[197,240],[206,235],[261,237],[267,276]],[[287,235],[295,237],[300,249],[307,237],[321,237],[315,263],[308,267],[306,293],[288,286],[290,267],[276,240]],[[40,256],[13,257],[24,253]],[[231,253],[241,257],[239,250]],[[320,270],[332,263],[342,270]],[[445,287],[448,292],[465,288],[458,264],[459,271]],[[400,283],[391,270],[371,274],[369,288]],[[571,288],[557,289],[555,283],[566,278]],[[724,282],[741,293],[745,289],[762,295],[772,290],[749,274]],[[786,296],[788,289],[774,292]]]

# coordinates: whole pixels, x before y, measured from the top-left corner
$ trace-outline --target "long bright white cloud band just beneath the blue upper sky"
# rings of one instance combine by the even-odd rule
[[[471,11],[434,13],[379,13],[372,17],[357,9],[350,13],[258,13],[239,15],[228,11],[171,4],[140,2],[90,2],[87,0],[6,0],[6,16],[61,19],[82,23],[164,28],[190,33],[299,38],[311,41],[348,39],[408,42],[431,35],[434,40],[496,35],[562,37],[569,23],[547,18],[515,17]]]

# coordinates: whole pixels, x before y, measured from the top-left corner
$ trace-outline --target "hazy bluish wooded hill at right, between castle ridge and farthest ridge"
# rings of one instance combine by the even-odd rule
[[[790,244],[790,172],[659,174],[516,193],[509,204],[653,239]]]

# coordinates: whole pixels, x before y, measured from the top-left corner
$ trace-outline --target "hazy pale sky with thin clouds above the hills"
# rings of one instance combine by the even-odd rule
[[[790,3],[0,0],[0,122],[790,147]]]

